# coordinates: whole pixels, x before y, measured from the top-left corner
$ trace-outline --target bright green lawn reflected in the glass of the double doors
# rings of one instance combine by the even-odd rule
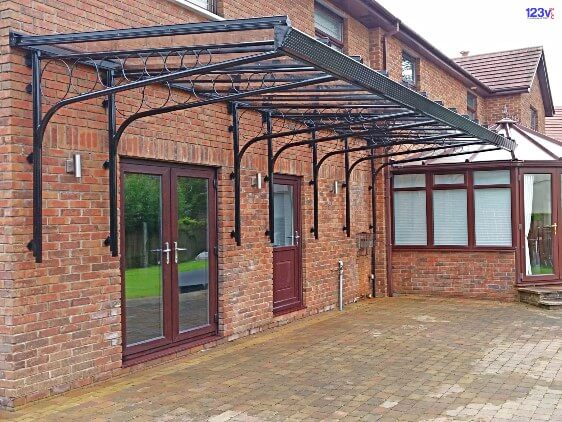
[[[179,264],[180,272],[200,270],[207,266],[207,260],[193,260]],[[141,297],[160,296],[162,267],[154,265],[147,268],[131,268],[125,271],[125,297],[137,299]]]

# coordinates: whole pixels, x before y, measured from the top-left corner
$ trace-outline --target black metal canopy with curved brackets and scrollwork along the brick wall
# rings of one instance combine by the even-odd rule
[[[206,34],[216,38],[221,33],[227,42],[201,42],[208,40]],[[235,34],[240,34],[241,40],[233,41]],[[139,40],[143,45],[152,40],[155,45],[122,47],[127,40],[136,40],[137,46]],[[42,260],[44,134],[59,110],[86,100],[103,98],[107,108],[109,157],[104,166],[109,170],[110,233],[106,244],[113,256],[118,255],[118,145],[126,129],[145,117],[219,102],[229,104],[235,193],[232,237],[237,245],[242,242],[242,159],[252,145],[267,145],[266,235],[272,242],[275,164],[290,148],[307,145],[312,150],[311,232],[318,238],[319,171],[331,157],[344,156],[343,229],[350,236],[350,175],[360,163],[371,162],[373,228],[375,160],[408,162],[464,154],[463,147],[469,145],[483,145],[490,150],[513,150],[515,146],[512,140],[467,116],[365,66],[360,58],[346,56],[300,32],[286,16],[39,36],[11,32],[10,45],[27,51],[32,68],[29,91],[33,105],[33,152],[29,162],[33,165],[33,239],[28,247],[37,262]],[[52,88],[49,73],[50,78],[56,76],[58,90]],[[148,91],[150,86],[167,94],[154,99]],[[117,95],[122,93],[130,95],[124,96],[126,101],[121,102],[126,106],[120,109]],[[44,103],[48,103],[45,113]],[[261,113],[263,130],[243,142],[240,115],[246,111]],[[276,128],[280,121],[281,129]],[[281,138],[285,143],[275,149],[274,141]],[[331,149],[320,157],[322,144]],[[363,151],[366,155],[351,162],[352,153]]]

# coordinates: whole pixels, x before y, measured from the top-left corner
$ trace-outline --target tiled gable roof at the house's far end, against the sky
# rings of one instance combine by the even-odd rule
[[[486,85],[492,94],[529,92],[538,77],[545,113],[547,116],[554,114],[542,47],[475,54],[453,60]]]

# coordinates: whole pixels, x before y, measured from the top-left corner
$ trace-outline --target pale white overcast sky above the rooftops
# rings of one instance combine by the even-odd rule
[[[562,106],[562,0],[377,0],[449,57],[544,48],[550,89]],[[528,19],[527,8],[554,8],[554,19]]]

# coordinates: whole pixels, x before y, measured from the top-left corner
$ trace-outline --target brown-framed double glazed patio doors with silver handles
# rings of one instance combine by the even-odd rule
[[[217,332],[215,173],[122,164],[124,356]]]

